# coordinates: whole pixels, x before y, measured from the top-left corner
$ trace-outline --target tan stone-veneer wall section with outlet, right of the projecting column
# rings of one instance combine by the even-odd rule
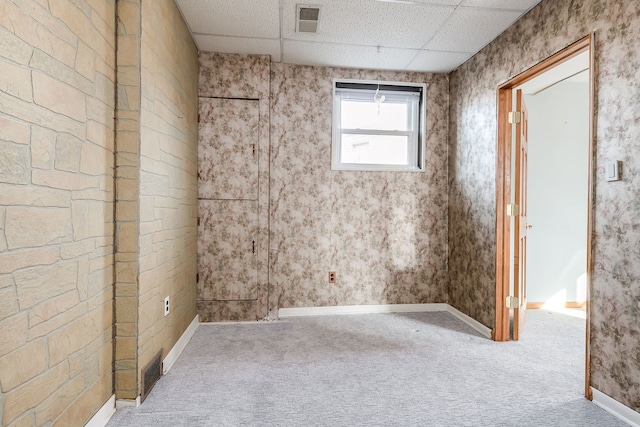
[[[143,0],[141,27],[139,369],[196,315],[198,216],[198,52],[173,0]]]

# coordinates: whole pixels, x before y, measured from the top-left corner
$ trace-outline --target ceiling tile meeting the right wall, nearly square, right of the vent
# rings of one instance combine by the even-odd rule
[[[477,52],[519,16],[520,12],[459,7],[425,49]]]

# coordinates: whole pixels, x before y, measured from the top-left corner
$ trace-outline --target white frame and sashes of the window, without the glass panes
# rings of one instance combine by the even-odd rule
[[[338,88],[338,83],[346,83],[350,88]],[[375,90],[380,87],[381,94],[385,95],[385,100],[407,96],[407,92],[402,91],[402,87],[416,88],[420,90],[418,102],[414,107],[413,126],[409,131],[388,131],[375,129],[342,129],[341,126],[341,100],[342,94],[348,94],[351,99],[364,99],[371,97]],[[393,90],[396,87],[397,90]],[[426,92],[425,83],[404,83],[387,82],[377,80],[333,80],[333,121],[332,121],[332,142],[331,142],[331,169],[332,170],[358,170],[358,171],[403,171],[403,172],[424,172],[424,151],[425,151],[425,121],[426,121]],[[416,93],[415,91],[413,93]],[[417,121],[417,124],[415,124]],[[341,160],[342,134],[364,134],[364,135],[402,135],[409,136],[408,161],[407,165],[393,164],[366,164],[366,163],[344,163]]]

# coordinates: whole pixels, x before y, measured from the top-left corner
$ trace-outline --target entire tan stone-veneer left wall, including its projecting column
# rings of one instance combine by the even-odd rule
[[[195,316],[197,52],[171,0],[0,0],[0,46],[0,425],[83,425]]]

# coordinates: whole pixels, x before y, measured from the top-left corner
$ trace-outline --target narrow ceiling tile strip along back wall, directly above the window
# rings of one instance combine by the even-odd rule
[[[415,50],[373,46],[336,45],[285,40],[283,62],[375,70],[403,70],[416,55]]]

